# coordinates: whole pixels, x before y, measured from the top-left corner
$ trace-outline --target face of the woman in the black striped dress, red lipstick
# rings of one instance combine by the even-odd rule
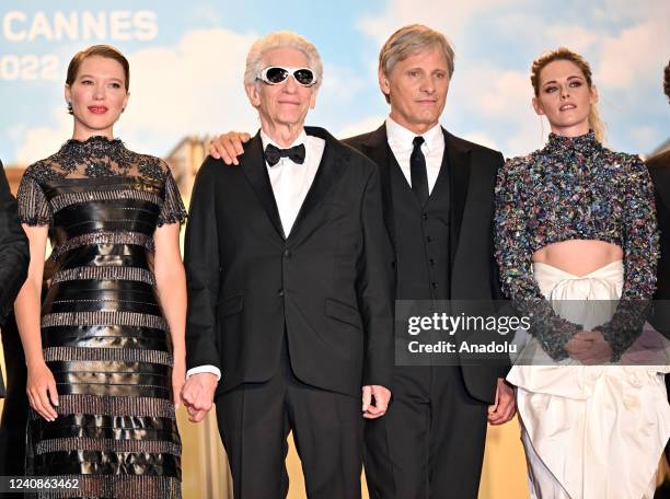
[[[71,85],[66,84],[66,100],[72,104],[76,135],[112,137],[112,127],[128,103],[123,66],[101,56],[86,57]]]

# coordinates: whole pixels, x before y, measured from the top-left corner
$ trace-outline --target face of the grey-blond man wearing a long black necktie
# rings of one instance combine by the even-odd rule
[[[379,74],[382,92],[391,100],[391,117],[423,134],[437,125],[449,91],[449,67],[438,48],[427,48],[397,61],[389,74]]]

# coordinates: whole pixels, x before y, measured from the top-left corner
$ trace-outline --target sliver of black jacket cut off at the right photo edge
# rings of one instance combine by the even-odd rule
[[[660,300],[654,307],[651,324],[654,327],[670,334],[670,151],[660,153],[649,161],[647,167],[654,181],[658,228],[660,230],[661,257],[658,262],[658,281],[655,300]]]

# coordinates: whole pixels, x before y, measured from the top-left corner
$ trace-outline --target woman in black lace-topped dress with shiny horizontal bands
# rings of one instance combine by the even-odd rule
[[[185,210],[168,165],[113,138],[128,61],[93,46],[68,68],[73,138],[19,188],[31,245],[15,311],[28,368],[27,474],[45,497],[181,497],[175,404],[185,374]],[[39,313],[51,228],[56,269]]]

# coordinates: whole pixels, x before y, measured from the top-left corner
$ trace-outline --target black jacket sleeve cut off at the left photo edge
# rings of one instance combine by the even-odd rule
[[[16,214],[16,200],[0,162],[0,326],[27,276],[28,255],[27,239]],[[4,396],[1,373],[0,396]]]

